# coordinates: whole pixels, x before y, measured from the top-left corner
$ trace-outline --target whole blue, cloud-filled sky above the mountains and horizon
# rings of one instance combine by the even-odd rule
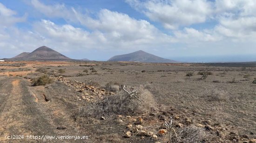
[[[256,0],[0,0],[0,58],[43,45],[96,61],[256,61]]]

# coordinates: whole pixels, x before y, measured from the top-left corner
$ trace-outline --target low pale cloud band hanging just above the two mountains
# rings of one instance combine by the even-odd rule
[[[127,22],[129,21],[127,20]],[[34,23],[34,31],[40,33],[42,37],[54,39],[55,43],[65,42],[68,46],[73,45],[73,47],[84,49],[126,49],[137,48],[142,45],[151,47],[152,45],[171,43],[172,37],[161,33],[154,27],[151,27],[152,29],[148,28],[147,23],[133,22],[135,24],[130,27],[133,27],[130,30],[128,26],[126,26],[128,30],[123,28],[111,29],[108,27],[111,23],[108,26],[106,25],[106,27],[101,27],[101,22],[99,22],[99,26],[103,30],[96,28],[96,30],[88,32],[81,28],[75,28],[72,25],[56,25],[50,20],[42,19],[40,22]],[[138,27],[136,27],[136,24]]]

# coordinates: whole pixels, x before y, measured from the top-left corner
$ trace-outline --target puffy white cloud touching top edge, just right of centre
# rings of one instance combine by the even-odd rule
[[[159,21],[167,29],[177,29],[205,22],[212,13],[212,3],[207,0],[127,0],[149,19]]]

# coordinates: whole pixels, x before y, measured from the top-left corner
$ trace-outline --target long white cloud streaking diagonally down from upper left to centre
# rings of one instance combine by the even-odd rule
[[[152,41],[171,41],[170,36],[163,34],[148,21],[133,19],[124,13],[102,9],[97,13],[97,19],[93,19],[87,14],[76,11],[74,7],[67,8],[63,4],[47,6],[38,0],[32,0],[32,4],[40,12],[49,17],[58,17],[67,21],[79,22],[81,25],[93,31],[100,31],[102,33],[101,35],[104,35],[105,38],[108,37],[108,40],[115,42],[148,44],[148,42],[151,43]]]

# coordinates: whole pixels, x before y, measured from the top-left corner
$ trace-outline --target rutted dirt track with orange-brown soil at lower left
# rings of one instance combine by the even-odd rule
[[[73,124],[65,124],[65,114],[52,113],[52,106],[44,105],[43,97],[38,99],[29,89],[30,83],[22,78],[0,76],[0,143],[72,143],[73,140],[29,139],[27,136],[77,135]],[[59,114],[60,115],[60,114]],[[54,116],[51,118],[51,116]],[[57,116],[57,117],[56,117]],[[58,128],[59,127],[59,128]],[[63,130],[60,128],[67,128]],[[7,136],[21,135],[24,139],[7,139]]]

